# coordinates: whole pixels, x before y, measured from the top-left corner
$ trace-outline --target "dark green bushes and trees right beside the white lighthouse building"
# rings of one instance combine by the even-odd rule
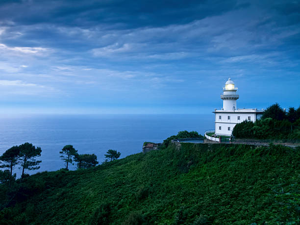
[[[276,103],[266,109],[262,118],[244,121],[234,126],[232,135],[236,138],[273,139],[283,141],[300,141],[300,107],[289,108],[285,112]]]

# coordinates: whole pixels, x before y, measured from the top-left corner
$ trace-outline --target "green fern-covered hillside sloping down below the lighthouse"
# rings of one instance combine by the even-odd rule
[[[26,177],[2,224],[300,223],[300,148],[183,143]]]

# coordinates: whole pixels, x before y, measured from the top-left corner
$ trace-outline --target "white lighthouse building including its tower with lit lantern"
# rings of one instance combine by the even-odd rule
[[[223,88],[223,108],[221,110],[215,109],[215,134],[230,136],[233,127],[245,120],[256,121],[261,118],[263,109],[239,109],[236,107],[236,100],[239,99],[239,95],[236,94],[238,88],[234,87],[233,81],[229,78],[225,87]]]

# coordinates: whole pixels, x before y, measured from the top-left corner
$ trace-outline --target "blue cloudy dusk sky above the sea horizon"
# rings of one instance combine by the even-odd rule
[[[1,0],[0,113],[300,105],[299,0]]]

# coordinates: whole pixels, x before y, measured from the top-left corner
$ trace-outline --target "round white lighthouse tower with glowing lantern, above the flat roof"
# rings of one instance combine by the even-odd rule
[[[223,110],[235,111],[237,109],[236,100],[239,99],[239,95],[236,94],[237,89],[237,87],[234,87],[234,82],[228,78],[223,88],[223,95],[221,95]]]

